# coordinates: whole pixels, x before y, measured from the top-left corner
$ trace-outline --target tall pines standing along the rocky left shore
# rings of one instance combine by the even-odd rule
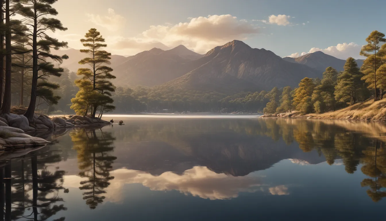
[[[24,116],[32,120],[36,111],[49,113],[58,105],[66,112],[73,109],[95,117],[115,108],[111,105],[115,86],[110,81],[115,76],[105,66],[111,53],[102,50],[107,45],[96,29],[80,39],[85,58],[79,63],[88,67],[79,69],[78,77],[60,67],[68,56],[55,55],[55,50],[67,48],[68,43],[49,36],[67,30],[54,18],[58,11],[52,4],[57,1],[0,0],[0,114],[9,114],[11,106],[26,105]]]

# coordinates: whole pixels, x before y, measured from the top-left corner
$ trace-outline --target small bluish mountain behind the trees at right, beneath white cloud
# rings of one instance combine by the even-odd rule
[[[331,55],[326,55],[322,51],[315,51],[313,53],[309,53],[298,58],[285,57],[283,60],[292,63],[300,63],[303,65],[307,65],[308,67],[312,67],[320,72],[324,72],[327,67],[333,67],[337,71],[344,70],[345,60],[335,58]],[[356,60],[358,67],[361,67],[364,60],[357,59]]]

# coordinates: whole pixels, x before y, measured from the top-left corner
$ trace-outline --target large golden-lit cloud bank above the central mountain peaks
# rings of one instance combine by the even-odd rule
[[[168,47],[182,44],[198,53],[206,53],[215,46],[234,39],[243,40],[257,33],[260,33],[260,28],[244,19],[239,20],[232,15],[208,15],[178,24],[150,26],[136,37],[122,38],[114,47],[125,45],[125,48],[139,52],[143,43],[162,43]],[[134,44],[135,41],[139,44]]]

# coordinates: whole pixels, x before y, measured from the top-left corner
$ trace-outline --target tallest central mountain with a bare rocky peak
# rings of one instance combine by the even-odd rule
[[[287,62],[272,51],[251,48],[237,40],[217,46],[189,64],[194,62],[202,65],[165,86],[229,93],[295,87],[304,77],[322,76],[306,65]]]

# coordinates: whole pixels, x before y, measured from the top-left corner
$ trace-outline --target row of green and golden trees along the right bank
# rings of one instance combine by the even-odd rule
[[[268,94],[265,114],[300,111],[301,113],[324,113],[373,98],[383,99],[386,89],[386,42],[385,35],[373,31],[360,55],[366,57],[362,67],[349,57],[340,73],[327,67],[322,79],[302,79],[294,90],[277,87]]]

